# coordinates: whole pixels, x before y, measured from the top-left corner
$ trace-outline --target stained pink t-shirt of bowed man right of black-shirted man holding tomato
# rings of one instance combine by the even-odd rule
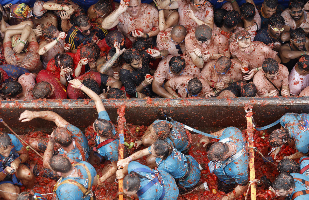
[[[164,83],[165,80],[168,81],[171,78],[179,76],[179,75],[171,74],[169,71],[170,67],[168,65],[168,62],[171,60],[172,57],[173,56],[166,56],[163,60],[159,62],[159,65],[154,74],[155,80],[158,81],[159,83]],[[194,78],[199,78],[200,73],[201,73],[200,69],[193,64],[191,59],[185,56],[181,56],[181,57],[183,57],[184,60],[186,61],[186,66],[184,68],[182,75],[189,75],[189,76],[193,76]]]

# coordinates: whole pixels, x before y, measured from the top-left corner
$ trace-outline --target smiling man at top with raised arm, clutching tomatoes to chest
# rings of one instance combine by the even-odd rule
[[[137,36],[151,40],[160,32],[159,13],[155,7],[141,3],[140,0],[129,2],[121,0],[119,8],[104,18],[102,22],[102,27],[106,30],[116,25],[118,30],[132,42]]]

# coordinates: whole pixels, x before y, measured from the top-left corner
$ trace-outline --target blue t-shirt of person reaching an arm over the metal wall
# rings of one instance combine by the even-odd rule
[[[99,112],[99,119],[105,119],[110,121],[108,113],[106,110]],[[113,126],[113,134],[116,135],[116,129]],[[95,140],[96,143],[100,144],[100,136],[96,135]],[[118,147],[119,147],[119,140],[114,140],[101,148],[98,148],[98,153],[105,158],[105,160],[110,160],[111,162],[116,162],[118,160]]]

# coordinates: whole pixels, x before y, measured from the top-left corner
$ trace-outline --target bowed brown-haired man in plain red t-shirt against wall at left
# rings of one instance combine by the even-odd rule
[[[67,99],[66,87],[61,84],[53,73],[45,69],[38,73],[32,94],[35,99]]]

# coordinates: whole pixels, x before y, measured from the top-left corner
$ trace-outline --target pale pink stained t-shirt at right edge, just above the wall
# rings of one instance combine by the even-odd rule
[[[298,95],[302,90],[309,86],[309,74],[303,76],[296,72],[295,67],[298,65],[296,64],[290,75],[289,75],[289,88],[290,94]]]

